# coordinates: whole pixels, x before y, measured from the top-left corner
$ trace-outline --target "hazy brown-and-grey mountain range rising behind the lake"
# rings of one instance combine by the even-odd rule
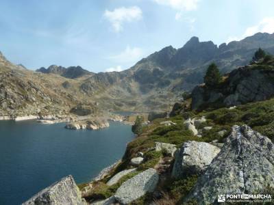
[[[168,111],[183,91],[203,82],[212,61],[224,74],[247,64],[259,47],[274,53],[274,34],[257,33],[220,46],[193,37],[181,49],[168,46],[128,70],[97,74],[80,66],[49,66],[32,72],[1,55],[0,113],[52,115],[66,113],[79,103],[102,110]]]

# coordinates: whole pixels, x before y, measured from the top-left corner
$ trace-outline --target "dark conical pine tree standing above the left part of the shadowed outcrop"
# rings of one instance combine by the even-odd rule
[[[206,71],[205,77],[203,77],[203,81],[208,87],[216,87],[216,85],[221,82],[221,74],[216,64],[212,63],[208,66],[208,70]]]

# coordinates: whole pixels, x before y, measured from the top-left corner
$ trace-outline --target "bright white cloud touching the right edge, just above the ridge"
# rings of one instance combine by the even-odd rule
[[[227,42],[232,42],[233,40],[241,40],[246,38],[247,36],[253,36],[255,33],[274,33],[274,17],[266,17],[258,23],[258,25],[253,25],[252,27],[248,27],[245,30],[245,33],[240,37],[232,37],[230,36],[227,39]]]

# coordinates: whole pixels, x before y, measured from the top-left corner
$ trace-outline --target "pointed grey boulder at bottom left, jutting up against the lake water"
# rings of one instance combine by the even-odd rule
[[[81,193],[75,184],[72,176],[66,176],[59,182],[55,182],[50,187],[43,189],[34,195],[23,205],[83,205]]]

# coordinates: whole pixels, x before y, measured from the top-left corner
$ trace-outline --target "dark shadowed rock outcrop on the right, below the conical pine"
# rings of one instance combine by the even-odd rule
[[[198,85],[192,91],[192,109],[231,107],[274,96],[273,59],[238,68],[214,88]]]

